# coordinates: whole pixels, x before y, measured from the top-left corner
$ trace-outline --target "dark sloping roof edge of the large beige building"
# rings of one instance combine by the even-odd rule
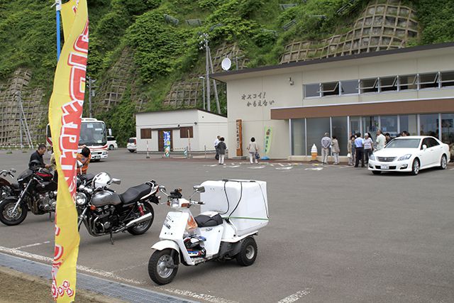
[[[371,52],[371,53],[360,53],[360,54],[355,54],[355,55],[345,55],[345,56],[338,56],[338,57],[328,57],[328,58],[323,58],[323,59],[290,62],[287,64],[246,68],[243,70],[233,70],[230,72],[217,72],[215,74],[211,74],[210,77],[214,78],[216,80],[222,81],[222,82],[226,82],[228,80],[233,80],[233,79],[244,79],[244,78],[250,78],[250,77],[258,77],[258,76],[262,76],[262,75],[277,75],[277,74],[284,74],[287,72],[299,71],[299,70],[301,70],[302,67],[309,66],[309,65],[322,65],[322,64],[326,64],[326,63],[332,63],[332,62],[341,62],[341,61],[348,61],[348,60],[358,60],[358,59],[365,59],[365,58],[372,58],[372,57],[381,57],[381,56],[385,56],[385,55],[409,55],[411,53],[416,53],[416,52],[421,52],[421,51],[443,50],[444,48],[454,48],[454,42],[438,43],[438,44],[431,44],[431,45],[419,45],[419,46],[414,46],[411,48],[398,48],[395,50],[379,50],[377,52]]]

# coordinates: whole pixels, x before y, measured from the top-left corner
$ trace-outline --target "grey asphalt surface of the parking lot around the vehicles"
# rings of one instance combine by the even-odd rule
[[[21,172],[28,158],[1,152],[0,168]],[[264,180],[270,224],[256,238],[254,265],[180,266],[174,282],[157,287],[147,265],[169,209],[153,206],[150,230],[116,235],[114,246],[108,236],[94,238],[82,227],[78,264],[85,272],[202,302],[454,301],[452,164],[417,176],[372,175],[345,165],[221,166],[114,150],[90,164],[89,172],[101,171],[122,180],[111,187],[120,192],[151,179],[186,194],[205,180]],[[52,234],[48,216],[28,214],[19,226],[0,225],[0,252],[45,260],[53,255]]]

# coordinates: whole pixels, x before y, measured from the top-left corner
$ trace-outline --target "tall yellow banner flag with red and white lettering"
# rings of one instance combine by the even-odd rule
[[[63,4],[62,18],[66,26],[65,44],[55,71],[49,103],[50,132],[58,172],[52,296],[57,302],[73,302],[80,240],[74,198],[76,157],[87,70],[87,0],[70,0]]]

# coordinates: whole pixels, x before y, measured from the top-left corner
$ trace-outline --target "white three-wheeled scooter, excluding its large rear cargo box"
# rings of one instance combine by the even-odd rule
[[[254,263],[257,243],[253,236],[258,234],[258,228],[238,236],[238,229],[232,221],[223,219],[218,212],[204,211],[194,218],[189,207],[204,205],[205,202],[192,201],[191,197],[205,192],[203,186],[194,186],[194,194],[189,200],[182,197],[181,189],[175,189],[170,194],[165,193],[165,187],[160,189],[168,198],[167,205],[174,211],[170,211],[165,218],[161,241],[152,246],[155,252],[148,263],[151,280],[159,285],[172,282],[180,262],[188,266],[213,259],[236,258],[238,264],[243,266]]]

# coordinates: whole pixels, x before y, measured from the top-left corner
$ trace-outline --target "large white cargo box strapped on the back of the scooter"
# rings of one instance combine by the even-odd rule
[[[205,181],[201,212],[216,211],[228,218],[238,231],[237,236],[265,227],[268,216],[267,182],[257,180]]]

